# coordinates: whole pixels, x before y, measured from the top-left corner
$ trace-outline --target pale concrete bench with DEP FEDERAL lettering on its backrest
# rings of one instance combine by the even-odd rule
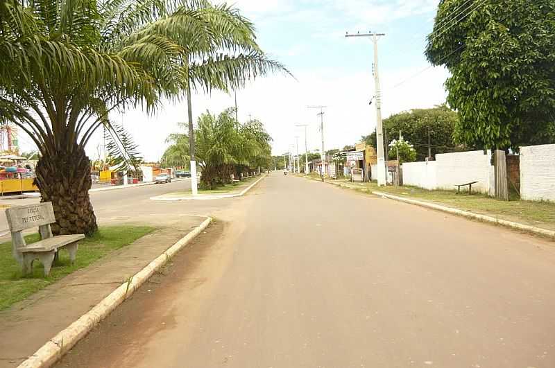
[[[52,236],[50,224],[56,222],[51,202],[28,204],[6,209],[6,218],[12,233],[12,253],[22,268],[23,274],[33,272],[33,261],[38,259],[44,265],[44,276],[48,276],[59,249],[67,249],[71,264],[75,261],[78,241],[83,234]],[[23,230],[39,228],[40,241],[27,244]]]

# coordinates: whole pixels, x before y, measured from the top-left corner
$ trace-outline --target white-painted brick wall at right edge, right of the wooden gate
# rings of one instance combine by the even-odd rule
[[[520,147],[520,197],[555,201],[555,144]]]

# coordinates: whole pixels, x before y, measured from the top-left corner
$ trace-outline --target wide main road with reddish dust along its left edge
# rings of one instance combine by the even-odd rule
[[[58,367],[555,367],[555,247],[273,174]]]

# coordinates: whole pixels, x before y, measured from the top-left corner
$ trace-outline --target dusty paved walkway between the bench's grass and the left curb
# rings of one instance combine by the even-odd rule
[[[17,367],[203,220],[198,216],[173,216],[153,234],[0,312],[0,367]]]

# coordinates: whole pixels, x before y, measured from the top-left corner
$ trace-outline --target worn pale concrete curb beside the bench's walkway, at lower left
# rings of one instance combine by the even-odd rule
[[[102,319],[107,317],[112,310],[117,308],[124,300],[126,300],[133,292],[152,276],[152,274],[162,268],[171,257],[179,252],[185,245],[193,240],[201,231],[206,229],[212,218],[207,216],[198,216],[205,220],[189,234],[178,240],[177,243],[169,247],[165,252],[157,256],[154,261],[148,263],[145,268],[137,272],[128,281],[124,282],[116,290],[112,291],[108,297],[105,297],[99,304],[96,304],[91,310],[79,317],[74,323],[60,331],[56,336],[51,338],[46,344],[38,349],[32,356],[27,358],[18,368],[47,368],[51,367],[56,361],[64,356],[74,345],[92,330],[92,328]]]

